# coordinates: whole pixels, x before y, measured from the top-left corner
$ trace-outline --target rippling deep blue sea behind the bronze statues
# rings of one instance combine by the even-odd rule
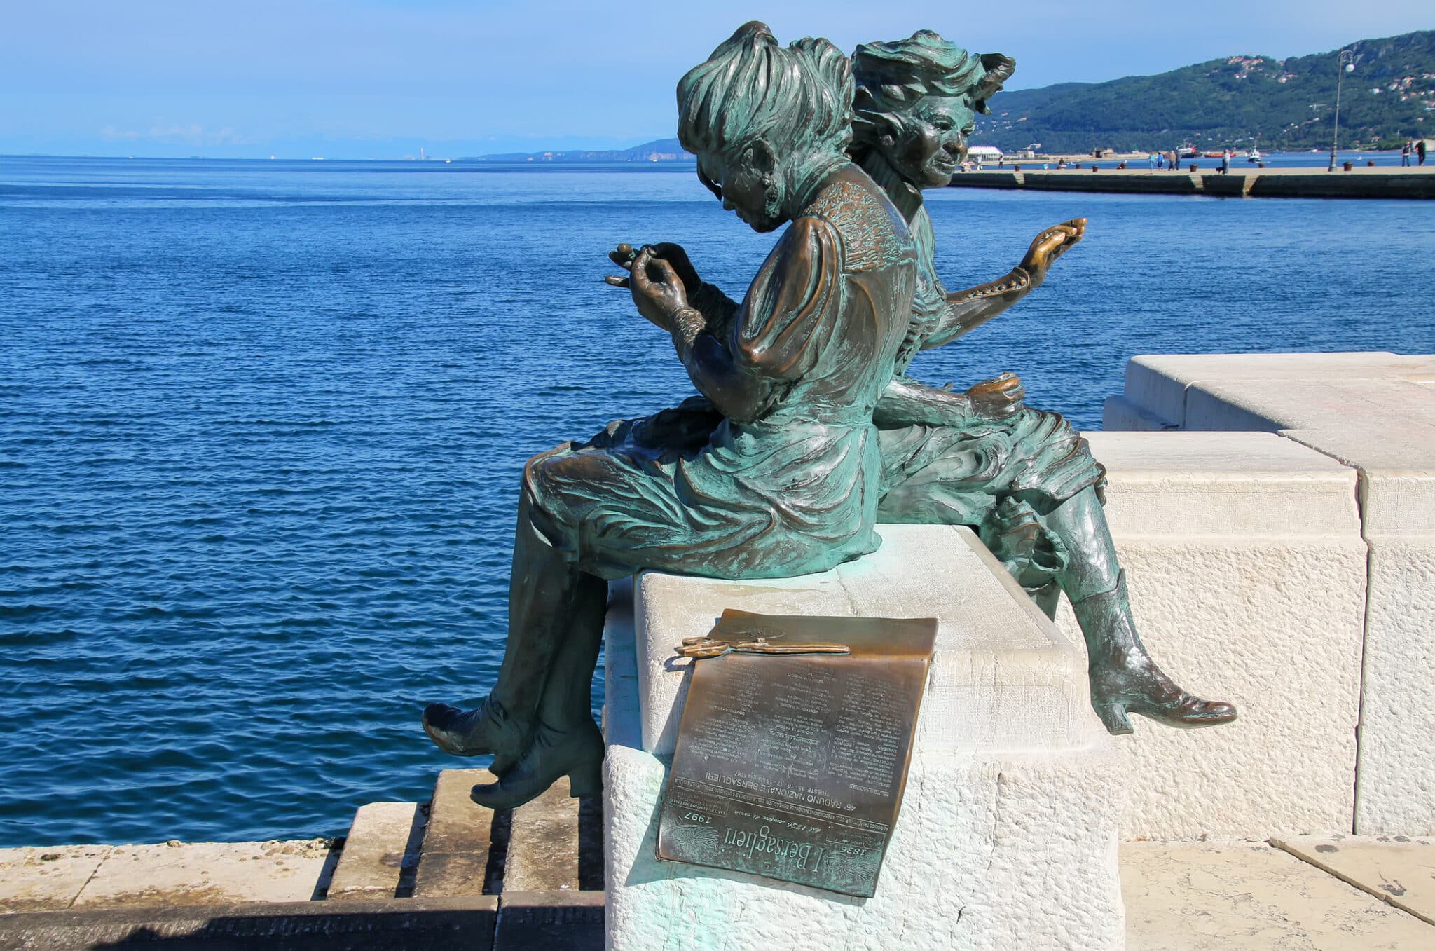
[[[1429,204],[950,189],[949,287],[1089,237],[914,373],[1101,425],[1138,353],[1435,351]],[[690,166],[0,158],[0,846],[340,833],[461,765],[518,473],[687,394],[603,284],[772,235]],[[596,704],[601,693],[596,693]]]

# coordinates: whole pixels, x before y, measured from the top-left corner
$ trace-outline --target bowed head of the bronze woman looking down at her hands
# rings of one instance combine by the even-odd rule
[[[798,166],[841,156],[852,138],[852,76],[827,40],[782,47],[746,23],[677,83],[677,138],[723,207],[758,231],[791,209]]]

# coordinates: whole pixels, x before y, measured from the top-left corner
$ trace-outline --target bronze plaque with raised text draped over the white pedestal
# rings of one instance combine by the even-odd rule
[[[934,618],[723,611],[713,641],[851,653],[693,661],[657,856],[870,898],[936,637]]]

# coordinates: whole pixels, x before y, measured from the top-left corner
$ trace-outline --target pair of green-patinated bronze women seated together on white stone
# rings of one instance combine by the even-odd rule
[[[672,336],[699,396],[528,462],[498,683],[476,710],[423,714],[442,749],[494,754],[499,780],[474,799],[517,806],[564,775],[574,796],[600,787],[590,683],[608,581],[824,571],[874,551],[884,521],[971,526],[1048,614],[1065,591],[1112,733],[1131,732],[1128,713],[1234,719],[1177,687],[1137,637],[1086,442],[1025,406],[1010,374],[966,393],[905,376],[1082,238],[1082,219],[1049,228],[1006,277],[966,291],[936,275],[921,189],[950,181],[1013,66],[930,32],[848,59],[749,23],[683,76],[679,138],[697,176],[753,230],[791,225],[742,303],[677,245],[611,252],[627,274],[608,281]]]

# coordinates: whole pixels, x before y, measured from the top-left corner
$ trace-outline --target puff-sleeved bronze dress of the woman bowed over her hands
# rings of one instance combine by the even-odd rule
[[[875,551],[883,460],[871,417],[914,280],[901,215],[858,168],[838,166],[740,306],[712,288],[693,294],[755,409],[720,422],[700,406],[669,410],[696,429],[660,413],[535,456],[524,470],[534,526],[608,579],[640,568],[786,577]]]

